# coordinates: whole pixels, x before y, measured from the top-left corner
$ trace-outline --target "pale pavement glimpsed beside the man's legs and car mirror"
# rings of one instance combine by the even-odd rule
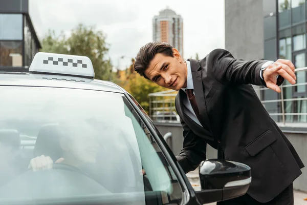
[[[198,169],[186,174],[195,191],[201,190]],[[307,205],[307,193],[294,190],[294,205]],[[207,203],[207,205],[216,205],[216,203]]]

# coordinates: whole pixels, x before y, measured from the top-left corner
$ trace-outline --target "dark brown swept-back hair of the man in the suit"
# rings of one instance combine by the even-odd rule
[[[173,57],[172,48],[171,45],[164,42],[150,42],[145,46],[142,46],[136,57],[136,63],[134,65],[135,71],[137,71],[141,76],[149,79],[144,72],[149,67],[151,60],[158,53]]]

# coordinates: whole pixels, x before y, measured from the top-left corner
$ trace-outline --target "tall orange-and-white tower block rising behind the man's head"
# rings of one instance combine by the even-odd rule
[[[178,49],[183,56],[183,20],[180,15],[168,8],[152,19],[153,41],[166,42]]]

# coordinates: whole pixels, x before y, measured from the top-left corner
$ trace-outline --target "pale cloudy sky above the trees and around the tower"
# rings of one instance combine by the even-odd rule
[[[205,57],[225,48],[224,0],[30,0],[38,37],[49,29],[69,35],[79,23],[106,35],[108,56],[119,69],[129,66],[140,47],[152,41],[152,18],[169,8],[183,18],[184,58]],[[119,60],[120,56],[125,56]]]

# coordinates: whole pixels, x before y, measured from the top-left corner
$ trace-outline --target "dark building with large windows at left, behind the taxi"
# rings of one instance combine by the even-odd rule
[[[41,48],[28,0],[0,0],[0,69],[28,68]]]

